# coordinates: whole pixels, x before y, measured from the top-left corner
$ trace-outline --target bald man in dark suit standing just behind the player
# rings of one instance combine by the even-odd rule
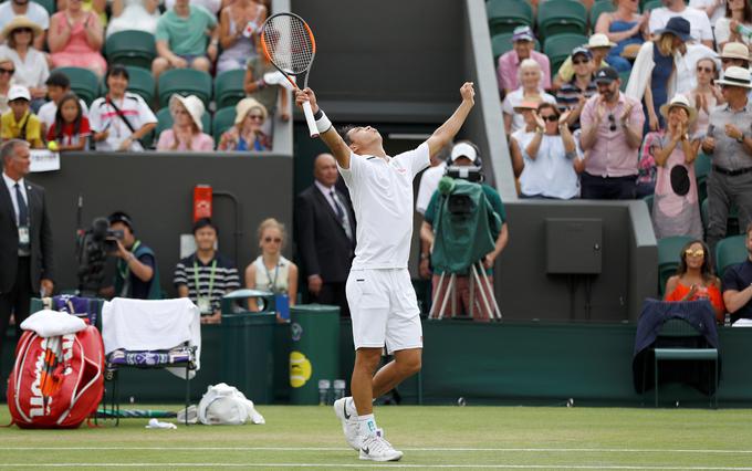
[[[337,164],[321,154],[313,164],[314,184],[297,196],[295,239],[311,302],[340,306],[349,316],[345,282],[355,251],[355,213],[340,191]]]

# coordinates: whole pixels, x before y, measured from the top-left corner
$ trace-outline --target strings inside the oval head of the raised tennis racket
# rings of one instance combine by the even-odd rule
[[[313,42],[305,24],[286,15],[270,20],[262,35],[269,59],[285,73],[305,72],[313,59]]]

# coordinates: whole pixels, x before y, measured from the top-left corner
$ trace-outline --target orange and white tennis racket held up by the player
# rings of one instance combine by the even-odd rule
[[[261,49],[269,61],[284,74],[290,83],[300,87],[292,75],[303,76],[303,88],[309,86],[309,72],[316,54],[316,41],[307,23],[294,13],[272,14],[261,27]],[[316,122],[309,102],[303,103],[303,114],[311,137],[318,137]]]

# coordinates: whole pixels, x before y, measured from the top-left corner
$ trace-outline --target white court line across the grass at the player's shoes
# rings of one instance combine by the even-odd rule
[[[349,451],[344,447],[0,447],[0,451]],[[532,453],[700,453],[752,454],[752,450],[689,450],[650,448],[401,448],[404,451],[532,452]]]

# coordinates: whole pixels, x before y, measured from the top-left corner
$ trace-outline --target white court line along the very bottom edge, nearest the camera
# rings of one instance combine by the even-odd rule
[[[711,471],[752,471],[739,467],[638,467],[608,464],[343,464],[343,463],[0,463],[0,468],[488,468],[488,469],[570,469],[570,470],[711,470]]]

